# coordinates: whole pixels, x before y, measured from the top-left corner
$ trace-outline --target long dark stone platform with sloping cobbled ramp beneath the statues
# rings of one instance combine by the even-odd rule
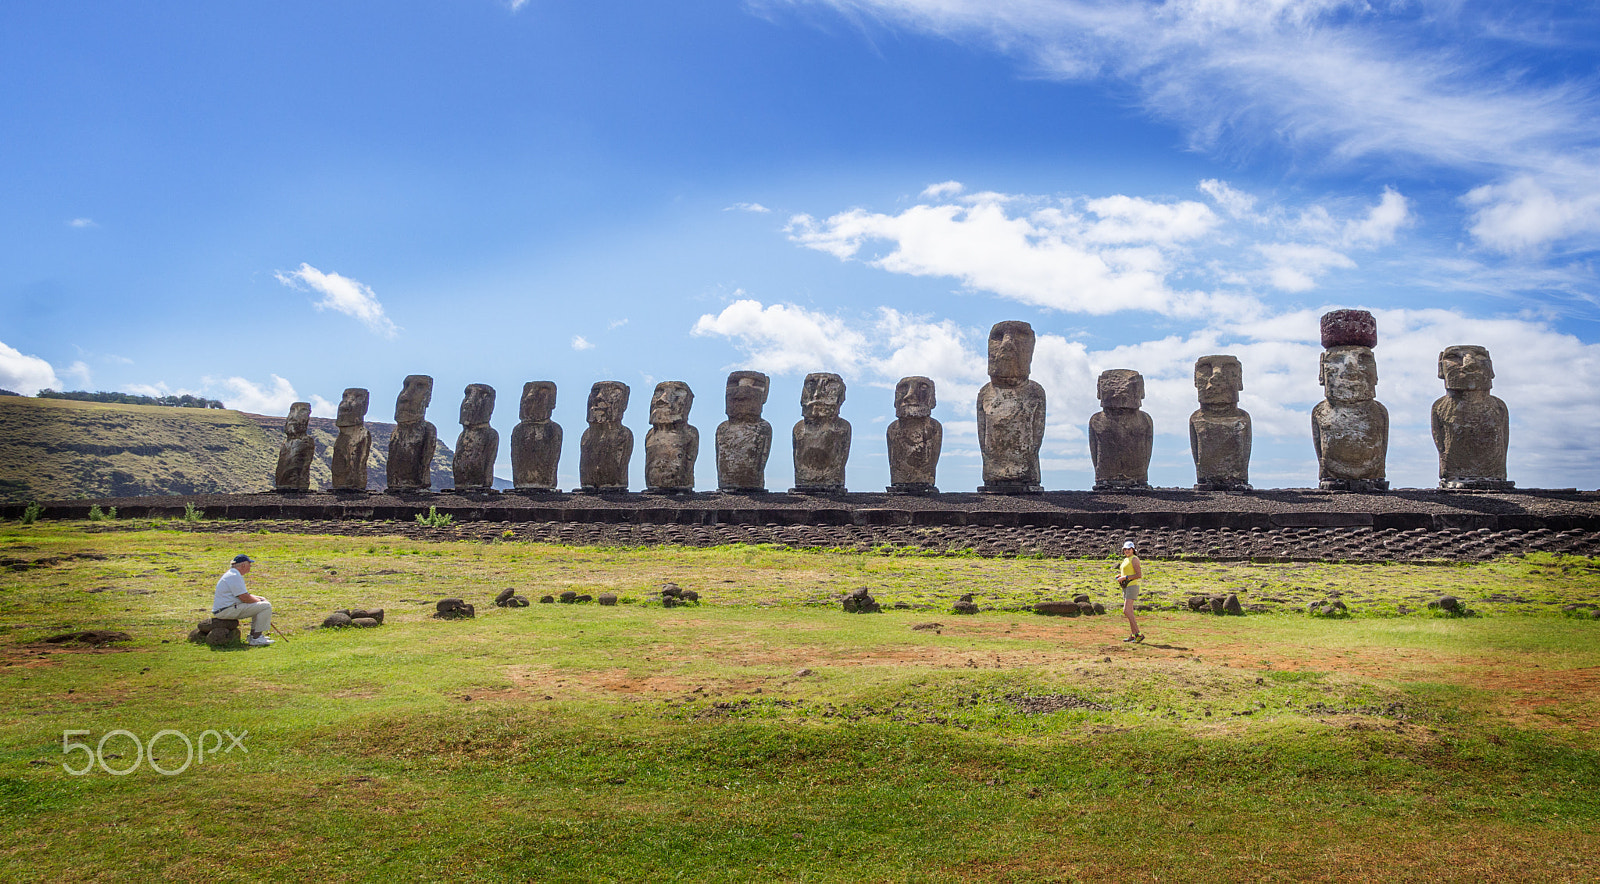
[[[842,495],[523,495],[253,493],[106,498],[43,504],[45,519],[85,519],[90,506],[126,519],[205,511],[197,532],[270,528],[349,536],[518,540],[602,546],[878,549],[978,556],[1109,556],[1136,538],[1144,557],[1202,561],[1483,561],[1518,552],[1600,554],[1600,492],[1474,493],[1394,490],[1357,495],[1270,490],[1046,492],[1029,496]],[[416,522],[429,506],[446,528]],[[22,506],[0,508],[16,519]],[[221,520],[227,519],[227,520]],[[254,524],[259,522],[259,524]],[[270,522],[270,524],[269,524]]]

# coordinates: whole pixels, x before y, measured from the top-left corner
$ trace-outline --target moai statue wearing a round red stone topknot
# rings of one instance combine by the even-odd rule
[[[1323,399],[1310,412],[1317,477],[1325,492],[1384,492],[1389,455],[1389,410],[1378,389],[1378,320],[1366,311],[1333,311],[1322,317]]]

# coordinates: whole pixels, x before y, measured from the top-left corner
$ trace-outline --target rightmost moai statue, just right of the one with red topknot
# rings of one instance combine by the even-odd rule
[[[1445,396],[1434,402],[1434,447],[1438,448],[1438,487],[1451,490],[1504,492],[1506,447],[1510,442],[1510,413],[1494,386],[1490,351],[1458,344],[1438,354],[1438,376]]]

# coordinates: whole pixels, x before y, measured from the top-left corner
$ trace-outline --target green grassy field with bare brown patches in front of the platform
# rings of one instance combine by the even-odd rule
[[[238,551],[291,641],[186,642]],[[1110,605],[1110,561],[11,522],[0,565],[6,881],[1595,879],[1600,621],[1558,612],[1592,559],[1157,561],[1158,605],[1357,615],[1157,610],[1142,645],[1021,610]],[[910,607],[842,613],[858,586]],[[1440,593],[1482,617],[1400,613]],[[352,605],[386,625],[309,629]],[[134,639],[42,641],[93,628]],[[96,746],[138,765],[67,772]]]

